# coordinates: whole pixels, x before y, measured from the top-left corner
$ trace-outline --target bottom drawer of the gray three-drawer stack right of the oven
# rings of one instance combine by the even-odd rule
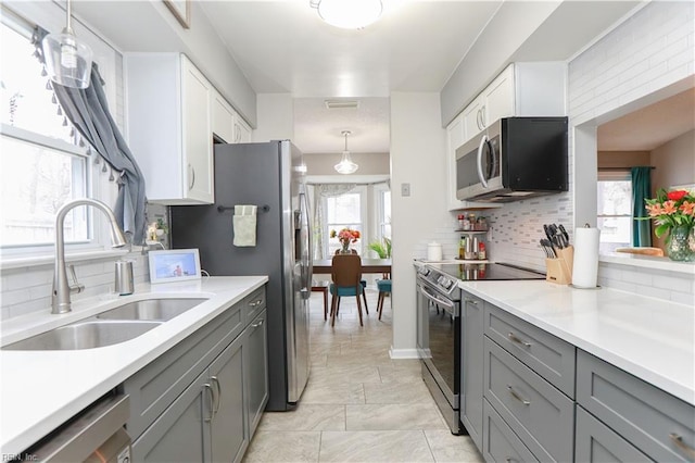
[[[483,399],[482,455],[486,462],[538,462],[533,453],[519,440],[490,402]]]

